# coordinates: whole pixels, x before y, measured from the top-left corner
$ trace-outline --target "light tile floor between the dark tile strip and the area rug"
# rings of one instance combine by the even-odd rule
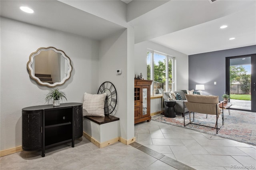
[[[256,146],[150,121],[135,125],[136,142],[197,170],[256,170]]]

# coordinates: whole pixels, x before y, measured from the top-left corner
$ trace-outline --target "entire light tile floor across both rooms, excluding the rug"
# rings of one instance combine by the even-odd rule
[[[256,146],[156,121],[135,125],[136,142],[99,149],[86,138],[75,147],[17,152],[0,159],[1,170],[228,170],[256,169]],[[175,167],[175,168],[174,168]]]

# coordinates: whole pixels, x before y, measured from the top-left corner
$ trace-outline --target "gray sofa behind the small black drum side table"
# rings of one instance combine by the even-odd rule
[[[184,101],[186,101],[186,97],[185,94],[187,94],[186,90],[178,90],[178,91],[174,91],[175,94],[179,93],[182,97],[182,100],[176,100],[173,99],[173,101],[176,101],[175,106],[174,106],[174,110],[176,113],[181,113],[182,117],[184,117],[184,113],[188,112],[188,109],[186,107],[186,105],[184,104]],[[164,101],[170,99],[170,92],[166,91],[164,92]],[[166,109],[166,105],[165,102],[163,104],[164,109]]]

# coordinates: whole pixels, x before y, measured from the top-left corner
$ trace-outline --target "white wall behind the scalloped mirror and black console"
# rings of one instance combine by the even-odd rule
[[[0,19],[0,150],[22,145],[22,108],[44,105],[50,87],[30,79],[26,64],[39,47],[56,47],[71,59],[71,78],[63,90],[68,101],[84,100],[84,92],[98,90],[99,42],[7,18]]]

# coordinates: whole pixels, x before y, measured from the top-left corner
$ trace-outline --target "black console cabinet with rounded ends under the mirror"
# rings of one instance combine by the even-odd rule
[[[41,105],[22,109],[22,149],[42,149],[72,142],[83,135],[82,103],[63,103],[60,106]]]

